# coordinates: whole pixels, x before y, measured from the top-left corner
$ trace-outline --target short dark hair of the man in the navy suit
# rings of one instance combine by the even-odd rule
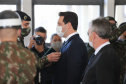
[[[60,12],[59,16],[64,16],[63,22],[67,24],[68,22],[71,23],[74,30],[77,30],[78,26],[78,16],[74,12]]]

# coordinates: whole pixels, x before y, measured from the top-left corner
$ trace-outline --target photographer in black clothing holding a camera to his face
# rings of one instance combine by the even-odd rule
[[[41,59],[49,49],[45,46],[46,35],[47,32],[45,28],[38,27],[35,29],[34,36],[30,38],[28,48],[34,52],[38,60]],[[50,63],[48,62],[47,64]],[[47,64],[44,64],[43,68],[37,67],[35,84],[52,84],[52,66],[47,66]]]

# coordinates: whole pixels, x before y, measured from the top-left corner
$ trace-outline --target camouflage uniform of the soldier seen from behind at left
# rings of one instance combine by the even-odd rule
[[[45,62],[46,57],[40,60]],[[33,84],[36,74],[36,58],[33,53],[17,42],[0,45],[0,84]],[[42,66],[41,65],[41,66]]]

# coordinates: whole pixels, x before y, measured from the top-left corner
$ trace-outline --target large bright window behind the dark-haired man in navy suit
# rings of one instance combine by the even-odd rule
[[[72,11],[78,15],[78,33],[84,42],[88,42],[87,31],[91,20],[100,16],[99,5],[34,5],[35,26],[44,27],[47,30],[47,40],[56,33],[58,13]]]

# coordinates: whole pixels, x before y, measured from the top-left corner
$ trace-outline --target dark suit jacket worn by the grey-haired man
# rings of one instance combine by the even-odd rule
[[[86,67],[82,84],[119,84],[119,72],[119,57],[106,45]]]

